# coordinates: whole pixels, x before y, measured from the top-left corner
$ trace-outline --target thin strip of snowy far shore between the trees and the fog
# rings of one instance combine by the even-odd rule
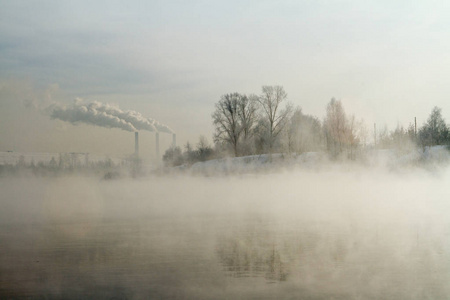
[[[339,163],[347,163],[355,166],[369,166],[375,168],[401,169],[408,166],[439,167],[450,162],[450,152],[447,146],[434,146],[415,148],[409,150],[368,150],[360,155],[356,161],[350,160],[329,160],[328,155],[323,152],[306,152],[302,154],[261,154],[244,157],[229,157],[213,159],[205,162],[197,162],[191,166],[182,165],[174,168],[165,168],[169,173],[191,172],[193,174],[214,175],[214,174],[241,174],[272,172],[277,170],[290,170],[294,168],[320,169],[327,168]],[[86,161],[100,162],[111,160],[115,164],[120,164],[127,157],[114,157],[101,154],[85,153],[24,153],[24,152],[0,152],[0,165],[25,164],[48,164],[52,159],[56,162],[60,157],[68,159],[75,164],[84,165]],[[331,163],[331,164],[330,164]],[[155,165],[143,165],[147,170],[154,170]]]

